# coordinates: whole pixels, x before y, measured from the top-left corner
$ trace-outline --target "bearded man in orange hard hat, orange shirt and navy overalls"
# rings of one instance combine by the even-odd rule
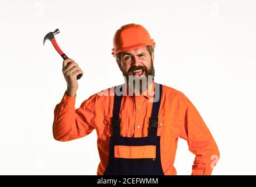
[[[178,138],[195,154],[192,175],[210,175],[219,150],[198,110],[184,95],[154,82],[154,40],[136,24],[115,33],[112,55],[125,83],[95,93],[75,109],[74,60],[63,61],[67,90],[54,110],[53,136],[58,141],[84,137],[96,129],[101,162],[98,175],[176,175]]]

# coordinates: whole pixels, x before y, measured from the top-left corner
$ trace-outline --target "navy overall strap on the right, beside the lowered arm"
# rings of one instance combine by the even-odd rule
[[[155,82],[154,101],[150,117],[149,136],[157,136],[158,113],[162,97],[162,85]]]

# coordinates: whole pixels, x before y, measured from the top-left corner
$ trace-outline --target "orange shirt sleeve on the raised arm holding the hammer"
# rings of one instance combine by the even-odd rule
[[[54,109],[53,137],[55,140],[74,140],[86,136],[95,129],[95,95],[82,102],[78,109],[75,109],[76,96],[68,96],[65,92],[61,102]]]

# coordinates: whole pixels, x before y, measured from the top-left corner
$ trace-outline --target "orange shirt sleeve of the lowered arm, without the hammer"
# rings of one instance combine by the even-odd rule
[[[198,110],[185,96],[182,138],[188,142],[189,150],[195,154],[192,175],[211,175],[219,161],[220,153]]]

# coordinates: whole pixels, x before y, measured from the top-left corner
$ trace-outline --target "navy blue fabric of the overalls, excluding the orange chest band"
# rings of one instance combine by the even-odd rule
[[[156,85],[157,83],[155,83]],[[149,136],[147,137],[122,137],[120,136],[120,106],[122,95],[115,93],[112,136],[110,137],[109,162],[103,175],[164,175],[160,157],[160,136],[157,136],[158,112],[161,103],[162,85],[158,84],[159,97],[157,102],[153,102],[150,117]],[[155,92],[156,93],[156,92]],[[156,98],[154,96],[154,98]],[[153,158],[115,158],[115,146],[155,146],[155,159]]]

